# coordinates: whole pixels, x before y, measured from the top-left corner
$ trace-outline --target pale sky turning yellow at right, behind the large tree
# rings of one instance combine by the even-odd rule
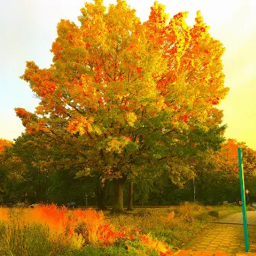
[[[0,0],[0,138],[15,139],[24,132],[14,107],[34,111],[33,97],[23,75],[25,62],[48,68],[60,19],[78,23],[85,0]],[[91,1],[87,1],[91,2]],[[104,5],[115,3],[105,0]],[[149,17],[154,0],[127,0],[142,21]],[[222,60],[229,94],[219,105],[227,123],[226,138],[246,142],[256,150],[256,1],[255,0],[159,0],[170,18],[189,11],[194,24],[198,10],[210,26],[210,34],[226,47]]]

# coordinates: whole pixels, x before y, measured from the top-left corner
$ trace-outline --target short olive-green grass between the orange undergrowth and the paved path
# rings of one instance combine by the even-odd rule
[[[151,234],[176,250],[216,219],[210,216],[210,210],[213,210],[211,206],[186,202],[181,206],[140,209],[129,215],[107,216],[115,226],[126,226],[131,232],[140,230],[142,233]]]

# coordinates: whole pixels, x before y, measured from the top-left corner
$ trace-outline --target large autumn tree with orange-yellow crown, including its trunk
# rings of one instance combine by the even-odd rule
[[[49,69],[27,62],[21,78],[41,101],[34,114],[16,113],[27,133],[75,152],[84,163],[80,175],[114,181],[118,212],[127,178],[160,170],[174,184],[191,177],[178,150],[187,145],[186,131],[210,129],[213,105],[226,97],[224,48],[200,12],[188,27],[186,12],[168,21],[157,2],[144,23],[121,0],[109,8],[94,0],[81,11],[80,26],[59,22]]]

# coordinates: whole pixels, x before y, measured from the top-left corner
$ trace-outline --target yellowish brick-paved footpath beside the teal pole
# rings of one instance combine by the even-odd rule
[[[250,253],[245,254],[242,213],[234,213],[220,219],[210,229],[189,242],[175,256],[190,255],[255,255],[256,256],[256,211],[247,212]]]

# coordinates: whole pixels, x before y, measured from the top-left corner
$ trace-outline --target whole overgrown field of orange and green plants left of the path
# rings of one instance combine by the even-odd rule
[[[171,255],[219,216],[240,206],[136,209],[123,215],[55,205],[0,208],[2,256]]]

